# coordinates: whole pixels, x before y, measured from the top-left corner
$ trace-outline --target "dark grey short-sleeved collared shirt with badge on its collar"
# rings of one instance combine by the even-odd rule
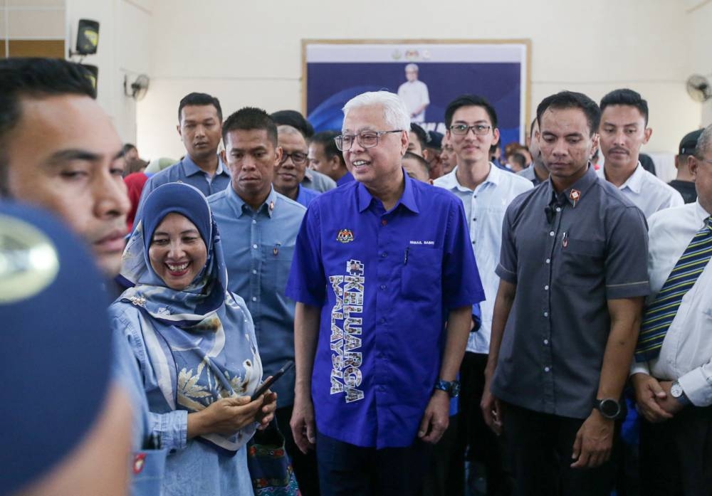
[[[643,213],[593,167],[551,179],[507,209],[497,275],[517,285],[492,391],[543,413],[587,418],[611,320],[607,300],[649,294]]]

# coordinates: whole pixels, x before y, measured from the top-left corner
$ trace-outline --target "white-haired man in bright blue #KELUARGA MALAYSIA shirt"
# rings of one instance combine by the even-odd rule
[[[461,202],[403,172],[403,102],[364,93],[344,112],[337,145],[355,181],[310,204],[287,285],[291,426],[301,450],[316,445],[322,495],[411,495],[447,428],[483,291]]]

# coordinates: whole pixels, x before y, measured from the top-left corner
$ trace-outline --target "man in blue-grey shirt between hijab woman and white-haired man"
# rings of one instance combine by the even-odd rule
[[[255,324],[265,376],[294,359],[294,301],[284,295],[304,207],[272,187],[282,158],[277,127],[264,110],[245,107],[223,125],[223,162],[231,184],[209,198],[224,246],[228,289],[243,297]],[[289,427],[294,372],[272,386],[276,418],[305,496],[318,494],[316,460],[295,447]]]

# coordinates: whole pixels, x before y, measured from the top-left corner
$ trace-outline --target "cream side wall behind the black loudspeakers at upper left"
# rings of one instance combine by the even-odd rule
[[[83,62],[99,68],[99,104],[125,142],[135,142],[136,103],[124,95],[124,77],[151,72],[152,0],[67,0],[67,46],[75,47],[79,19],[99,21],[96,55]],[[77,60],[77,58],[74,58]]]

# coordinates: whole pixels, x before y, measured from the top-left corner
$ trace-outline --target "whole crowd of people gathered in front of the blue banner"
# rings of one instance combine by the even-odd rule
[[[189,93],[147,162],[80,65],[0,60],[2,356],[71,381],[3,414],[0,494],[264,494],[277,429],[280,494],[711,495],[712,126],[665,184],[633,90],[546,97],[528,146],[417,110]]]

